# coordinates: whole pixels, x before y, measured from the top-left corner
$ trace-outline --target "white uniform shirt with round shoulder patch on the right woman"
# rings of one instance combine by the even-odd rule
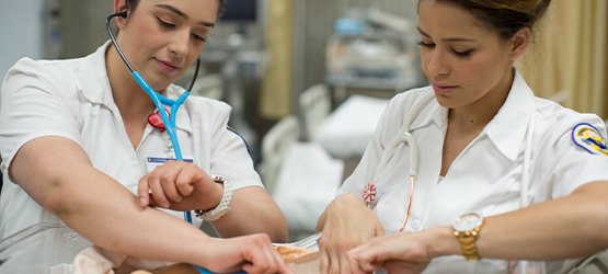
[[[411,90],[391,100],[359,165],[337,195],[363,195],[365,185],[372,181],[383,148],[399,133],[414,102],[428,92],[433,92],[431,87]],[[420,161],[404,232],[450,226],[455,218],[468,212],[492,216],[518,209],[525,138],[532,114],[536,125],[530,204],[566,196],[585,183],[608,180],[608,157],[590,153],[574,144],[572,138],[572,129],[580,123],[592,124],[606,136],[604,122],[597,115],[580,114],[535,98],[517,71],[500,112],[458,156],[441,179],[439,172],[447,114],[448,110],[434,99],[410,126],[420,147]],[[387,231],[399,230],[405,216],[410,194],[409,165],[409,147],[401,144],[387,168],[379,171],[379,195],[370,206]],[[505,261],[482,260],[475,263],[455,255],[433,260],[424,273],[501,272],[506,272]]]

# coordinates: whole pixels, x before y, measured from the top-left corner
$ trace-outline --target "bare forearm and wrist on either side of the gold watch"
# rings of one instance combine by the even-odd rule
[[[584,185],[570,196],[485,218],[479,254],[502,260],[562,260],[608,248],[608,182]],[[433,230],[437,255],[462,254],[451,227]],[[439,240],[440,239],[440,240]]]

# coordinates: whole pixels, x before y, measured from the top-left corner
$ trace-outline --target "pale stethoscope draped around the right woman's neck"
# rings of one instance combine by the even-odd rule
[[[376,173],[374,174],[374,181],[369,184],[370,186],[375,186],[378,182],[378,175],[387,168],[388,162],[390,161],[395,148],[400,144],[405,144],[410,147],[410,196],[408,198],[408,209],[405,210],[405,217],[403,218],[403,222],[401,224],[401,228],[399,228],[399,232],[403,231],[405,227],[405,222],[408,222],[408,218],[410,217],[410,207],[412,206],[412,196],[414,194],[414,183],[416,179],[416,172],[418,168],[418,145],[414,136],[410,133],[410,125],[416,116],[422,112],[423,107],[426,106],[433,99],[435,99],[435,92],[428,92],[423,98],[421,98],[412,110],[405,115],[405,119],[403,121],[403,126],[397,136],[394,136],[382,152],[382,157],[378,163],[378,168],[376,169]],[[534,104],[534,110],[536,110],[536,104]],[[530,161],[532,156],[532,134],[535,127],[535,112],[531,113],[530,118],[528,119],[528,129],[526,133],[526,142],[524,147],[524,165],[521,167],[521,191],[520,191],[520,199],[519,206],[521,208],[528,206],[528,186],[530,183]],[[371,187],[366,186],[364,189],[364,196],[366,196],[366,192],[370,193]],[[365,197],[364,197],[365,199]]]

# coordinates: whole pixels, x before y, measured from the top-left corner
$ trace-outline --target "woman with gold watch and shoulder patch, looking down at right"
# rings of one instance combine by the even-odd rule
[[[506,273],[608,248],[601,119],[535,98],[513,67],[548,5],[420,1],[432,87],[391,100],[321,216],[321,273]]]

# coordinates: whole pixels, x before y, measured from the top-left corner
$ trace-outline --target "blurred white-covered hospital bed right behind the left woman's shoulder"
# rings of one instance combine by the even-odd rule
[[[298,141],[299,121],[288,115],[262,139],[262,182],[283,210],[290,239],[314,232],[342,184],[344,161],[317,142]]]

